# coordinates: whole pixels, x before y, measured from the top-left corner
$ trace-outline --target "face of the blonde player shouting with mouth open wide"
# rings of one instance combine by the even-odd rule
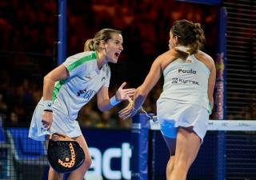
[[[112,38],[110,38],[105,44],[105,50],[107,61],[117,63],[119,55],[123,50],[122,35],[112,34]]]

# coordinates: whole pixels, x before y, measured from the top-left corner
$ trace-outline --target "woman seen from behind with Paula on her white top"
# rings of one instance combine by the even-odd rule
[[[145,81],[135,91],[134,102],[119,113],[130,118],[163,73],[165,82],[158,98],[158,121],[170,151],[167,180],[186,180],[206,134],[213,106],[216,70],[214,60],[200,50],[204,32],[199,23],[178,20],[170,29],[170,50],[154,60]]]

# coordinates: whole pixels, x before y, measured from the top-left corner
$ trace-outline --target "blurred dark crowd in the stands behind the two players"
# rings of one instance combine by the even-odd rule
[[[57,66],[57,2],[0,1],[0,58],[5,61],[1,62],[5,66],[0,68],[0,114],[8,126],[30,124],[34,107],[42,97],[42,78]],[[165,0],[67,1],[67,55],[81,52],[86,39],[102,28],[122,30],[124,51],[118,64],[111,65],[110,96],[124,81],[128,82],[127,87],[142,83],[154,58],[168,50],[170,26],[175,20],[186,18],[202,23],[207,42],[204,50],[214,58],[218,7],[191,6],[186,2]],[[2,58],[14,52],[22,52],[22,55]],[[21,56],[23,58],[19,58]],[[52,60],[43,63],[45,56]],[[161,91],[162,81],[146,99],[144,110],[156,113],[155,102]],[[86,127],[127,128],[131,121],[118,119],[118,110],[126,104],[123,102],[101,113],[94,98],[80,110],[78,120]]]

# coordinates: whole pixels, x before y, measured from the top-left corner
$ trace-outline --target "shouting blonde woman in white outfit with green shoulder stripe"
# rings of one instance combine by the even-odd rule
[[[85,43],[85,52],[75,54],[46,74],[43,97],[34,110],[29,137],[45,141],[49,134],[58,132],[77,141],[84,150],[86,160],[70,173],[69,180],[82,180],[91,164],[90,152],[76,121],[78,111],[97,94],[98,109],[109,110],[134,95],[134,89],[124,89],[126,82],[109,98],[110,66],[117,63],[122,47],[119,30],[103,29]],[[49,180],[62,179],[52,167]]]

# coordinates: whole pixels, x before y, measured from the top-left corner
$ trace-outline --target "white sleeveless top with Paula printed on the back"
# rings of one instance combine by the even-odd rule
[[[210,70],[190,55],[186,61],[177,59],[163,70],[164,85],[160,99],[195,104],[208,109],[208,78]]]

